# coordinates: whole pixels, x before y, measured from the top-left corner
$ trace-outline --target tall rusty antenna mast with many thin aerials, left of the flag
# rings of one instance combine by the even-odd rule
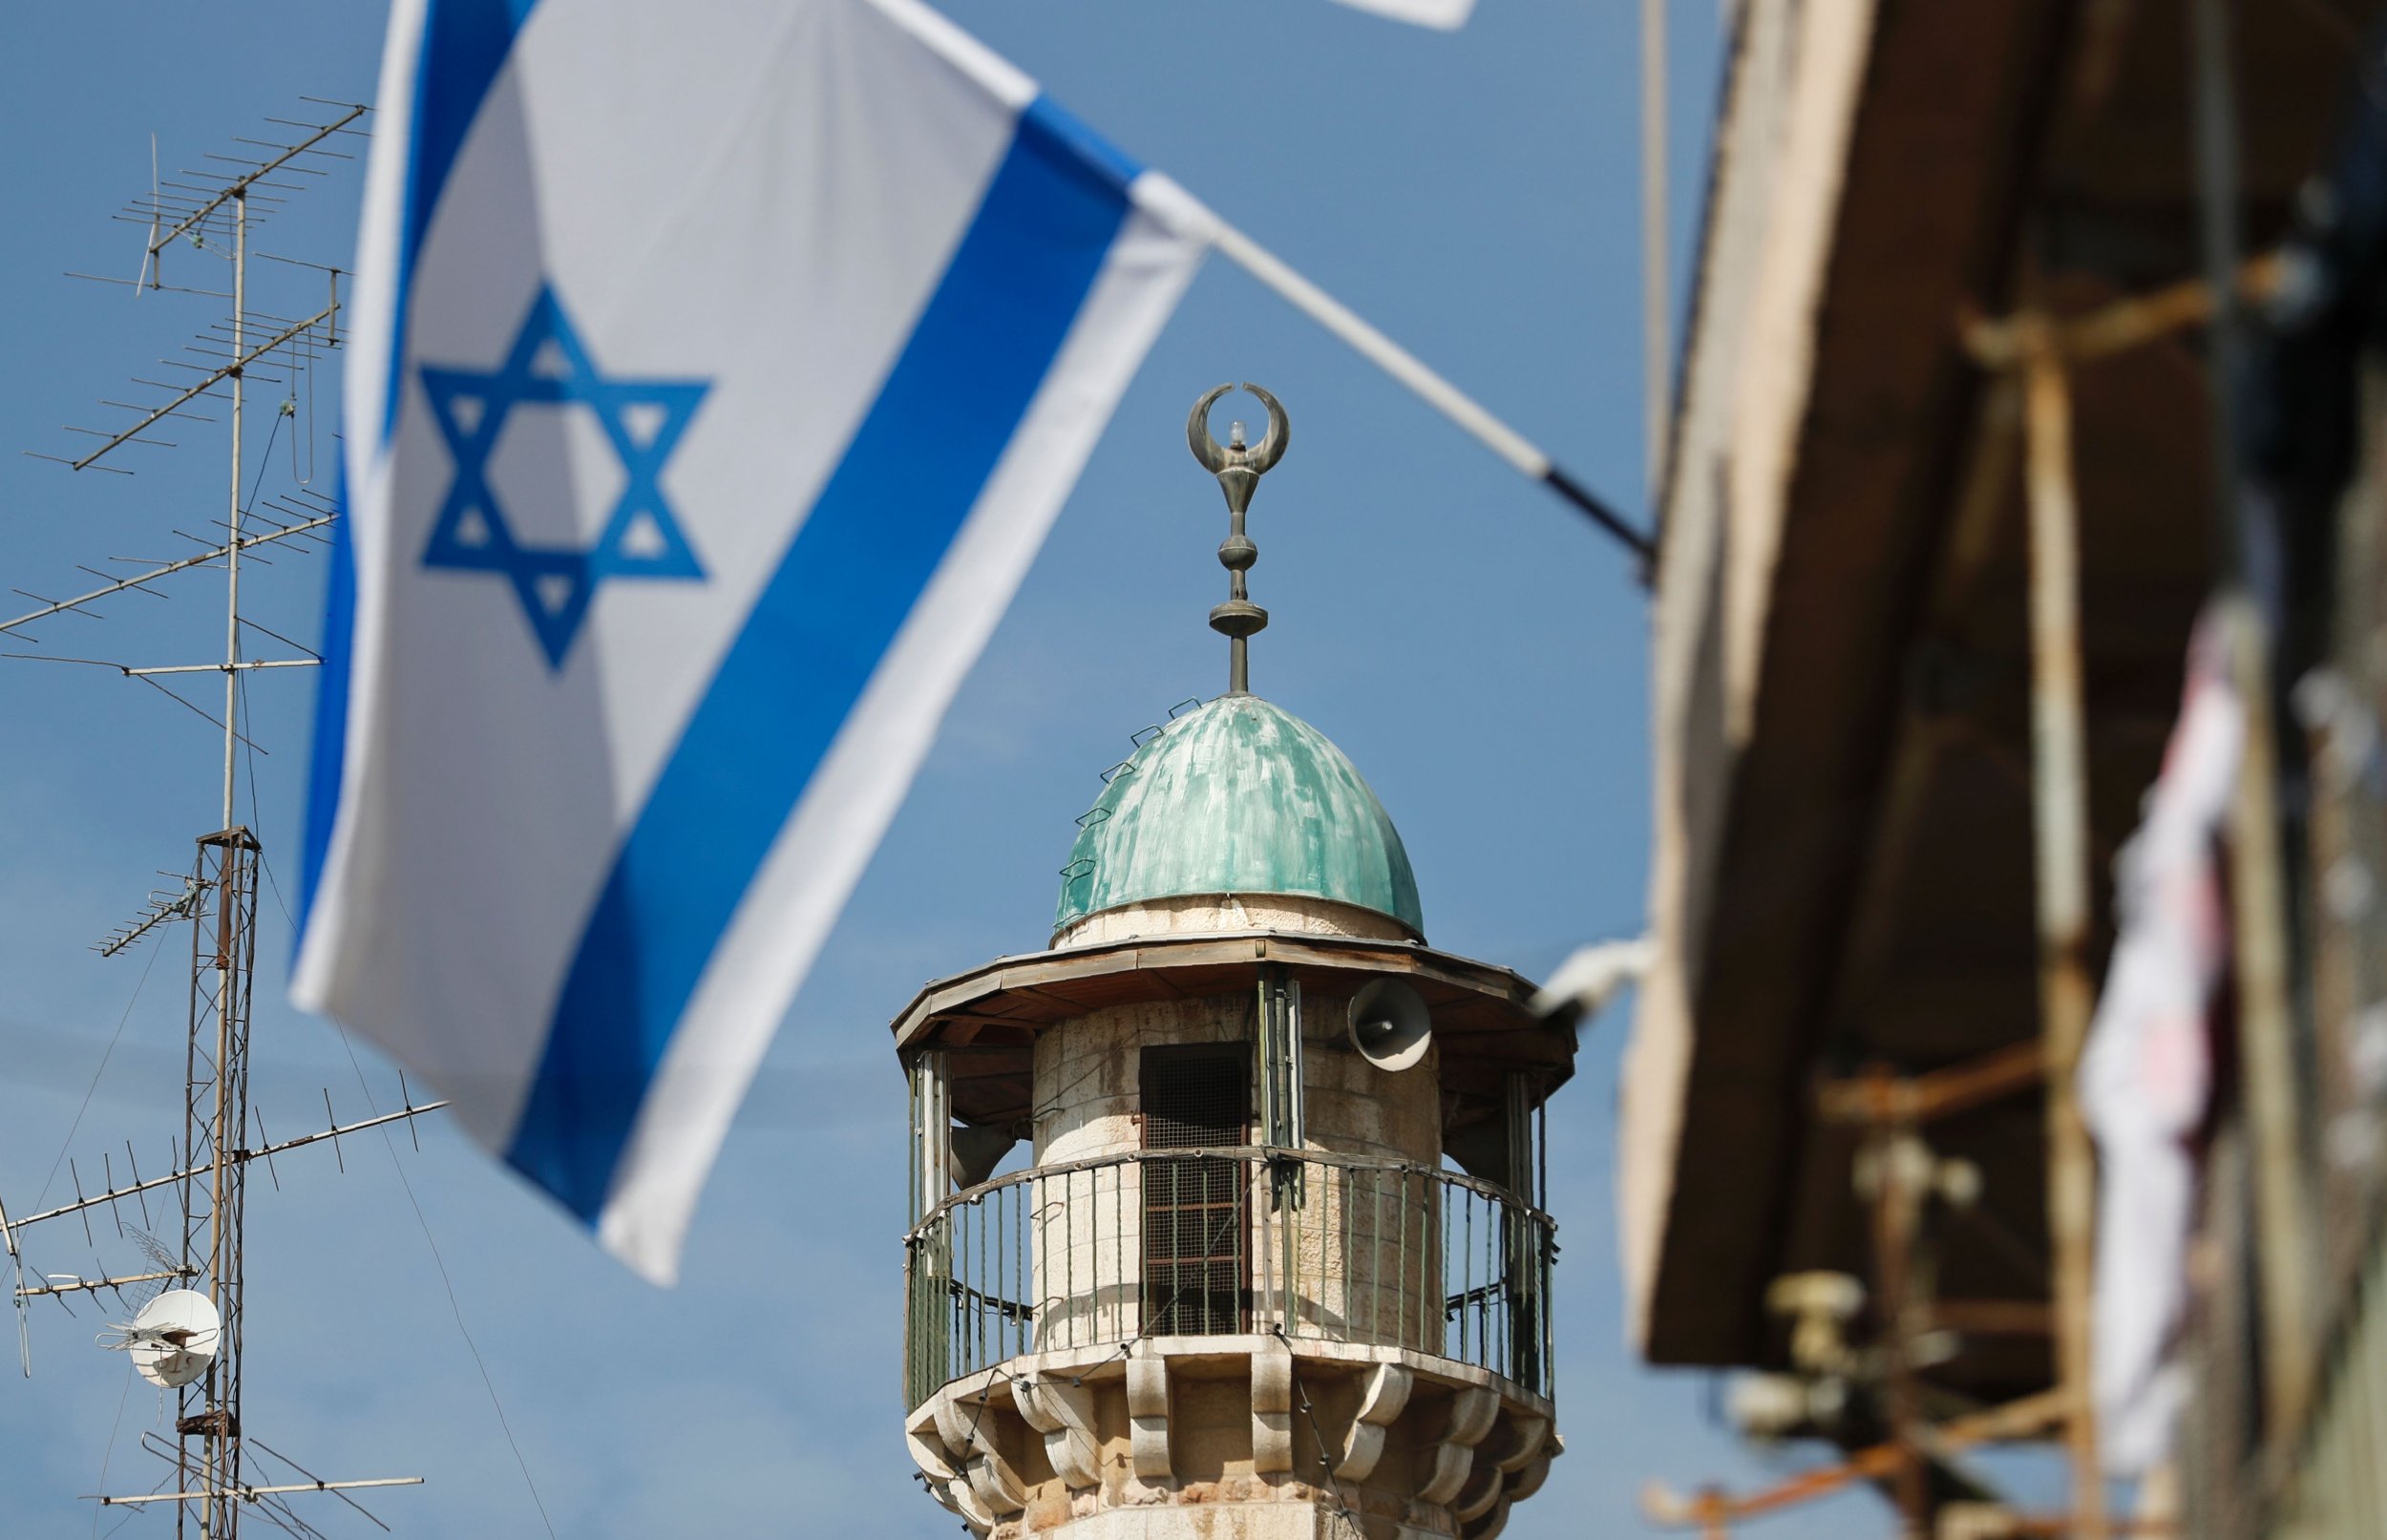
[[[36,1213],[26,1220],[7,1225],[5,1230],[7,1256],[17,1261],[24,1246],[24,1232],[43,1220],[57,1220],[64,1215],[81,1215],[84,1234],[91,1239],[91,1211],[105,1206],[110,1215],[117,1218],[119,1234],[124,1232],[119,1201],[131,1199],[141,1203],[143,1218],[148,1213],[146,1194],[160,1187],[174,1187],[179,1199],[179,1251],[167,1253],[162,1246],[153,1246],[153,1268],[131,1275],[100,1275],[95,1280],[57,1275],[45,1277],[38,1285],[29,1285],[17,1261],[17,1308],[24,1311],[26,1299],[50,1296],[64,1301],[69,1294],[100,1294],[110,1292],[119,1301],[124,1299],[127,1285],[138,1285],[143,1280],[162,1285],[189,1285],[205,1292],[205,1301],[215,1311],[215,1342],[198,1344],[205,1356],[205,1370],[196,1378],[158,1378],[143,1368],[146,1378],[158,1385],[177,1387],[179,1406],[174,1418],[174,1442],[155,1440],[148,1447],[155,1454],[169,1459],[174,1468],[172,1490],[148,1497],[100,1497],[103,1504],[112,1502],[169,1502],[177,1514],[177,1535],[201,1535],[203,1540],[234,1540],[239,1535],[241,1509],[248,1504],[265,1504],[267,1516],[277,1523],[294,1526],[298,1533],[313,1533],[296,1514],[286,1511],[286,1499],[282,1492],[298,1490],[339,1490],[360,1485],[408,1485],[415,1478],[401,1480],[363,1480],[363,1483],[291,1483],[277,1485],[267,1480],[260,1485],[253,1476],[243,1471],[243,1428],[241,1428],[241,1337],[243,1337],[243,1208],[246,1208],[246,1170],[251,1160],[272,1158],[277,1151],[313,1144],[317,1139],[332,1139],[358,1127],[372,1127],[380,1122],[411,1120],[420,1113],[434,1110],[444,1103],[415,1105],[406,1098],[403,1113],[387,1117],[370,1117],[353,1125],[339,1125],[337,1117],[332,1127],[320,1134],[306,1134],[301,1139],[289,1139],[272,1144],[263,1136],[263,1120],[258,1122],[258,1141],[248,1141],[251,1105],[248,1105],[248,1005],[251,984],[255,967],[255,917],[258,917],[258,871],[263,862],[263,845],[253,828],[239,824],[239,754],[243,747],[253,747],[241,731],[241,688],[243,673],[260,669],[294,669],[313,666],[320,661],[313,652],[291,645],[306,657],[241,657],[243,628],[258,630],[277,642],[286,642],[279,633],[251,621],[241,611],[241,566],[243,556],[263,561],[258,547],[289,542],[296,549],[308,549],[322,542],[322,530],[339,518],[337,506],[332,506],[320,494],[298,489],[286,499],[255,501],[255,487],[243,487],[246,480],[246,415],[248,415],[248,380],[258,375],[263,382],[289,382],[291,394],[277,404],[277,430],[279,420],[289,418],[294,423],[291,432],[291,456],[296,468],[296,377],[306,372],[308,394],[313,396],[313,368],[320,356],[332,353],[341,344],[341,270],[320,267],[315,263],[294,263],[298,267],[315,267],[329,279],[327,301],[320,310],[303,318],[272,315],[251,308],[251,258],[265,258],[277,263],[291,263],[291,258],[275,258],[270,253],[251,253],[251,224],[263,224],[272,212],[277,212],[289,193],[301,191],[303,177],[322,177],[325,170],[310,165],[320,158],[353,160],[339,148],[332,148],[341,136],[360,136],[363,129],[358,119],[365,117],[368,107],[353,103],[325,103],[320,98],[303,98],[317,110],[313,122],[296,119],[272,119],[284,129],[294,129],[286,141],[241,141],[253,146],[260,155],[208,155],[212,162],[229,162],[236,170],[229,172],[181,172],[184,179],[160,179],[155,170],[153,148],[153,186],[146,198],[136,198],[119,220],[141,222],[148,227],[141,277],[131,282],[134,289],[158,294],[212,294],[217,298],[232,301],[229,320],[210,327],[201,334],[198,344],[189,346],[186,353],[196,356],[201,363],[186,361],[162,361],[167,368],[186,370],[196,380],[186,384],[169,384],[146,380],[141,384],[162,392],[153,404],[119,404],[119,411],[131,411],[136,420],[129,427],[107,430],[69,430],[100,439],[95,449],[81,458],[69,456],[36,456],[53,458],[72,470],[115,470],[127,473],[122,466],[105,463],[117,451],[141,444],[141,446],[172,446],[165,439],[153,437],[153,432],[174,420],[210,420],[198,408],[203,401],[220,401],[229,406],[229,449],[232,449],[232,473],[229,473],[229,499],[227,513],[220,520],[222,540],[198,540],[205,549],[184,556],[179,561],[148,561],[134,563],[146,571],[129,575],[110,575],[98,568],[91,571],[98,578],[107,578],[105,585],[91,592],[50,599],[43,595],[26,595],[38,602],[12,621],[0,621],[0,635],[14,640],[33,640],[26,635],[26,626],[43,623],[62,614],[95,616],[95,602],[110,599],[124,592],[148,592],[155,595],[158,585],[167,578],[193,571],[220,566],[224,573],[224,649],[220,664],[167,664],[167,666],[134,666],[122,661],[103,659],[62,659],[57,654],[7,654],[7,657],[33,657],[43,661],[72,661],[115,669],[124,678],[138,678],[158,690],[174,695],[177,702],[208,716],[208,712],[172,690],[165,678],[181,673],[222,673],[222,797],[217,826],[198,836],[198,850],[193,867],[177,891],[153,895],[150,907],[124,926],[122,934],[105,941],[98,950],[103,955],[115,955],[148,931],[189,919],[191,922],[191,974],[189,974],[189,1015],[186,1015],[186,1043],[184,1043],[184,1127],[177,1158],[169,1163],[172,1175],[143,1182],[138,1170],[127,1184],[117,1184],[112,1177],[105,1191],[98,1196],[81,1194],[81,1177],[76,1172],[76,1201]],[[184,289],[165,282],[165,255],[174,246],[189,244],[198,251],[222,253],[229,246],[232,265],[232,291],[220,294],[212,289]],[[72,275],[91,277],[91,275]],[[127,279],[98,279],[98,282],[127,282]],[[229,344],[229,349],[227,349]],[[282,370],[272,375],[267,370]],[[31,454],[31,451],[29,451]],[[267,442],[267,456],[272,444]],[[310,454],[313,463],[313,454]],[[258,478],[263,485],[263,475]],[[263,525],[263,528],[260,528]],[[179,530],[177,530],[179,532]],[[19,590],[24,592],[24,590]],[[215,719],[210,719],[215,721]],[[253,795],[253,793],[251,793]],[[327,1096],[329,1110],[329,1096]],[[127,1160],[131,1160],[131,1148],[127,1146]],[[138,1234],[138,1232],[136,1232]],[[196,1316],[193,1316],[196,1318]],[[148,1337],[141,1325],[124,1328],[122,1342],[117,1347],[143,1347]],[[189,1335],[189,1330],[184,1332]],[[150,1344],[155,1347],[155,1344]],[[181,1347],[181,1344],[177,1344]],[[196,1363],[198,1356],[191,1361]],[[136,1351],[136,1366],[141,1366],[141,1354]],[[31,1373],[31,1366],[26,1366]],[[263,1449],[263,1444],[258,1444]],[[265,1454],[272,1454],[265,1449]],[[275,1456],[279,1464],[291,1464]],[[296,1466],[294,1466],[296,1468]]]

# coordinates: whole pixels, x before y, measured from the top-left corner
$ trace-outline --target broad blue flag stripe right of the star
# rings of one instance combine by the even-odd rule
[[[1019,427],[1124,215],[1117,165],[1024,112],[580,938],[506,1153],[580,1218],[604,1208],[714,945]]]

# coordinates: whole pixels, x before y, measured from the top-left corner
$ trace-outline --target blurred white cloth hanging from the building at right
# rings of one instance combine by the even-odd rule
[[[2208,1020],[2229,960],[2220,836],[2244,743],[2246,707],[2208,611],[2146,821],[2115,857],[2120,936],[2079,1065],[2098,1148],[2091,1390],[2115,1476],[2165,1456],[2186,1394],[2175,1344],[2196,1220],[2189,1141],[2213,1086]]]

